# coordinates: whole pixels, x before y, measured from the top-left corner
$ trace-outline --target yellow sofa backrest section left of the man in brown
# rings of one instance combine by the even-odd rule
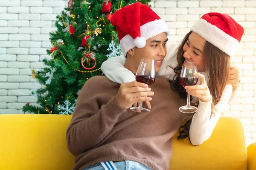
[[[72,170],[70,115],[0,115],[0,170]]]

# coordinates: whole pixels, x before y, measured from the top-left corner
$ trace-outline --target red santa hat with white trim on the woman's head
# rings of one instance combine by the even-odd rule
[[[211,12],[204,14],[191,28],[208,42],[231,57],[235,55],[244,28],[227,14]]]

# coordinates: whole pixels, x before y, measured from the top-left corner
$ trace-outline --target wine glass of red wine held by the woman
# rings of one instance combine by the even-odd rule
[[[195,62],[187,62],[185,61],[182,65],[180,80],[183,87],[189,85],[196,85],[198,82],[198,77],[194,76],[194,73],[197,73],[197,68]],[[179,108],[179,111],[182,113],[194,113],[198,110],[197,107],[190,105],[190,96],[188,91],[188,98],[186,106],[182,106]]]

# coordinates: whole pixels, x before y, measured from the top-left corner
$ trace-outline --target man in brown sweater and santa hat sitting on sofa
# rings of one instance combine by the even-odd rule
[[[142,58],[163,61],[169,30],[151,8],[134,3],[116,11],[111,23],[127,56],[125,68],[135,74]],[[150,113],[129,109],[150,100]],[[119,85],[104,76],[90,78],[67,129],[68,148],[76,156],[74,170],[169,169],[172,136],[188,116],[178,108],[185,104],[164,77],[151,88],[139,82]]]

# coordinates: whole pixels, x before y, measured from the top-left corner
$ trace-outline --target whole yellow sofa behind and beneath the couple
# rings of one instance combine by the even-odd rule
[[[71,170],[70,115],[0,115],[0,170]],[[86,130],[86,129],[85,129]],[[170,170],[256,170],[256,143],[247,148],[241,123],[221,117],[209,140],[173,141]]]

